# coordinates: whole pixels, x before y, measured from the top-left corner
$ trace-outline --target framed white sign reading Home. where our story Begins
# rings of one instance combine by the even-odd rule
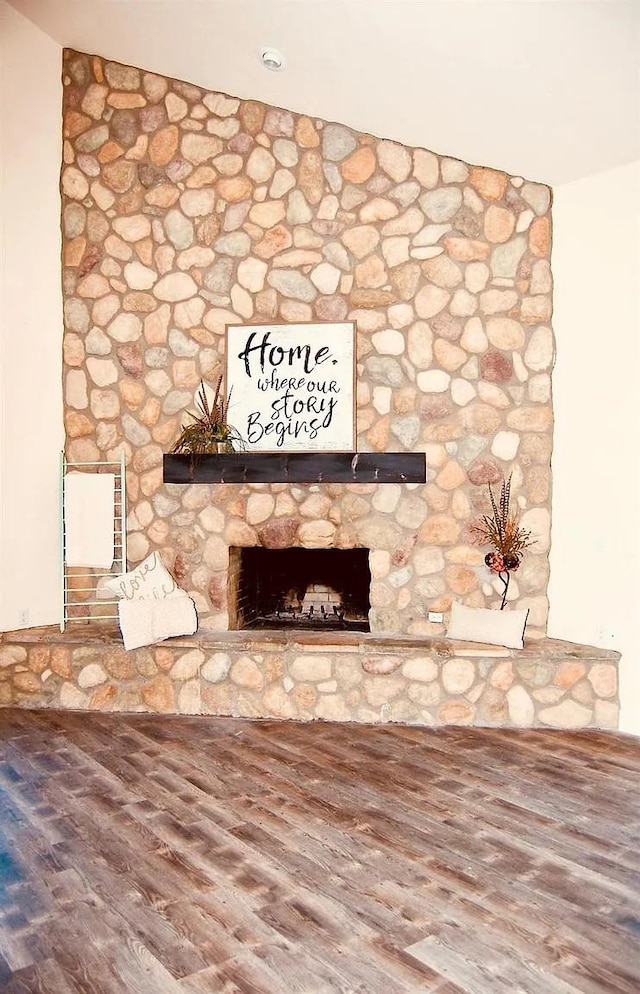
[[[228,325],[228,419],[247,450],[355,450],[355,325]]]

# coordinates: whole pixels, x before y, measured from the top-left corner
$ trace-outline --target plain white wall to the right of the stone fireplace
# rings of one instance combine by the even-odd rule
[[[549,635],[617,649],[640,735],[640,162],[554,191]]]

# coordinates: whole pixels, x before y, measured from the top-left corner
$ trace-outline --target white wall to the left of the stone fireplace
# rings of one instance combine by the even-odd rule
[[[0,0],[0,630],[58,619],[61,49]],[[27,611],[28,616],[24,613]]]

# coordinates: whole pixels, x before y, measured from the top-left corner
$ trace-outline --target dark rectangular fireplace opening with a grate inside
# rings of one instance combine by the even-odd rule
[[[231,629],[369,631],[368,549],[229,551]]]

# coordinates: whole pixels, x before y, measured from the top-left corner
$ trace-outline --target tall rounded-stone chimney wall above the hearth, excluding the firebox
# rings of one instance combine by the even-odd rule
[[[364,546],[372,630],[434,635],[499,604],[469,528],[512,474],[536,544],[510,597],[543,635],[548,188],[72,51],[63,82],[67,454],[125,451],[130,563],[159,551],[223,630],[230,546]],[[163,484],[227,323],[343,320],[358,448],[424,451],[425,485]]]

